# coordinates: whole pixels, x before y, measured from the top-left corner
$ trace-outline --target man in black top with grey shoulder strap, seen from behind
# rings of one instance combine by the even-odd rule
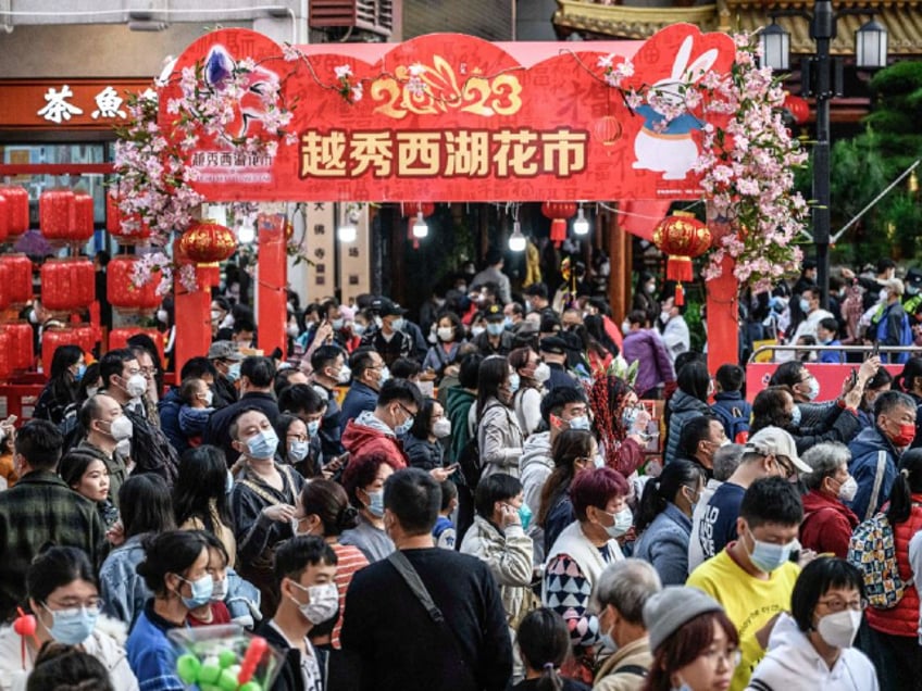
[[[362,663],[361,691],[502,691],[512,644],[499,588],[476,557],[434,546],[441,490],[419,468],[384,486],[384,525],[398,554],[358,571],[346,593],[342,649]],[[391,561],[402,555],[437,621]]]

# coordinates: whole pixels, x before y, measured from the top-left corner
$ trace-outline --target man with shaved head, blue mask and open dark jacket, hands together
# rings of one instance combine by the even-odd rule
[[[304,479],[275,462],[278,436],[258,409],[247,409],[230,424],[229,436],[241,462],[234,466],[230,497],[240,576],[259,588],[263,615],[275,611],[277,583],[272,575],[275,546],[291,537],[291,518]]]

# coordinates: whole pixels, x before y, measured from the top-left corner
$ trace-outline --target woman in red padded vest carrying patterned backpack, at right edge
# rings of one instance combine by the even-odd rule
[[[908,680],[922,679],[919,590],[909,562],[909,542],[922,530],[922,449],[902,454],[886,517],[893,527],[896,564],[906,590],[894,607],[869,607],[865,614],[870,637],[864,652],[874,662],[884,691],[906,689]]]

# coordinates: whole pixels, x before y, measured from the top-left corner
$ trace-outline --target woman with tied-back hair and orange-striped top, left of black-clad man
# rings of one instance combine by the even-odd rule
[[[349,495],[338,482],[317,479],[301,489],[301,501],[292,520],[295,536],[315,535],[324,539],[336,553],[336,588],[339,591],[339,618],[333,628],[331,644],[339,648],[339,630],[346,610],[346,591],[356,571],[369,565],[369,560],[351,544],[341,544],[344,530],[359,525],[359,512],[349,504]]]

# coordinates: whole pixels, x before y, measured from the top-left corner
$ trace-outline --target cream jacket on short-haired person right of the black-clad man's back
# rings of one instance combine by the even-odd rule
[[[482,516],[464,533],[461,553],[476,556],[490,569],[499,583],[499,594],[507,621],[512,621],[525,603],[525,591],[532,582],[532,539],[514,524],[499,531]]]

